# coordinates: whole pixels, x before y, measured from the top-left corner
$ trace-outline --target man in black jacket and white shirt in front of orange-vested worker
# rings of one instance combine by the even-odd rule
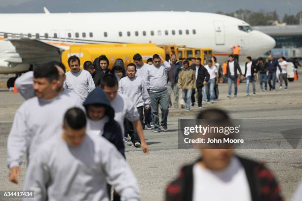
[[[234,56],[229,55],[228,56],[228,62],[227,62],[227,82],[228,82],[228,95],[227,97],[231,97],[232,93],[232,82],[234,83],[234,98],[237,98],[237,79],[238,74],[237,70],[240,73],[240,76],[242,76],[241,68],[238,64],[238,62],[234,61]]]

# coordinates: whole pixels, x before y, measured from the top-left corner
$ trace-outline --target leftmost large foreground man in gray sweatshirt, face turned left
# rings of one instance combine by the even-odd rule
[[[73,106],[82,107],[73,97],[59,94],[58,77],[58,69],[51,63],[35,67],[33,88],[36,97],[26,100],[16,111],[7,140],[9,180],[14,183],[18,183],[24,154],[30,162],[31,153],[61,131],[65,111]]]

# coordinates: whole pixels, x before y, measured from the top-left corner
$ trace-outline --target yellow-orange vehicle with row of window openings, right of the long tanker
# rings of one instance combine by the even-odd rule
[[[192,58],[197,57],[200,57],[201,60],[204,61],[204,59],[211,59],[213,55],[213,50],[211,48],[189,48],[185,45],[159,45],[159,47],[165,50],[167,60],[170,58],[172,53],[176,55],[176,58],[179,61],[183,61],[184,59],[188,59],[190,61]]]

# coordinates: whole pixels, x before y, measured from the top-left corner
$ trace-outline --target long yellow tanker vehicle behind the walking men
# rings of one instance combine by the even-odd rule
[[[143,61],[152,58],[154,54],[160,54],[165,56],[165,52],[162,48],[152,43],[142,44],[88,44],[88,45],[71,45],[69,50],[65,50],[62,53],[62,63],[67,67],[67,71],[70,70],[68,66],[68,58],[76,55],[80,58],[81,68],[85,61],[91,61],[102,54],[105,54],[109,59],[109,68],[113,66],[116,59],[120,58],[124,61],[124,65],[128,65],[133,62],[133,56],[139,53],[143,57]]]

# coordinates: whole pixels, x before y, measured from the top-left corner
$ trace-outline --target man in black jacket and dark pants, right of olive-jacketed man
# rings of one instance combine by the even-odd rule
[[[195,71],[195,79],[196,79],[196,88],[197,88],[197,102],[198,102],[198,107],[202,107],[202,87],[203,85],[205,85],[206,83],[203,84],[203,82],[205,81],[205,77],[208,73],[207,69],[201,65],[201,58],[197,58],[194,62],[194,64],[192,64],[190,66],[190,68],[192,70]],[[201,69],[201,71],[199,70],[199,68]],[[198,74],[200,75],[199,76],[199,85],[198,85]],[[208,79],[206,80],[206,82],[209,81],[209,77]],[[198,88],[199,87],[199,88]],[[201,87],[201,88],[200,88]],[[191,102],[192,102],[192,106],[194,106],[195,104],[195,89],[192,89],[192,95],[191,95]]]

